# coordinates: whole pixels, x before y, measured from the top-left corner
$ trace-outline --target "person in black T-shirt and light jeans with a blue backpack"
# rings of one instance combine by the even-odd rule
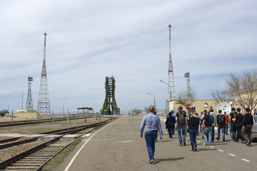
[[[210,145],[212,142],[212,123],[214,118],[210,115],[210,110],[207,111],[207,115],[204,116],[202,122],[202,131],[204,131],[204,145]]]

